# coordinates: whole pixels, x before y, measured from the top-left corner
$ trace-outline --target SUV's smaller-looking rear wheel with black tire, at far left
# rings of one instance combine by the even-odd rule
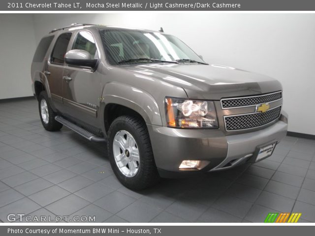
[[[46,107],[42,112],[42,108]],[[46,91],[41,91],[38,96],[38,110],[42,125],[48,131],[57,131],[63,127],[63,124],[55,120],[56,113],[50,106]],[[47,116],[48,115],[48,116]]]

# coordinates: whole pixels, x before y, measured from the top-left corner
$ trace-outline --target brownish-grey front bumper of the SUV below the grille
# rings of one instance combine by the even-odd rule
[[[287,131],[287,118],[264,129],[226,136],[221,130],[175,129],[148,124],[155,162],[161,177],[181,177],[232,168],[254,161],[257,146],[279,143]],[[199,170],[179,170],[183,160],[200,160]]]

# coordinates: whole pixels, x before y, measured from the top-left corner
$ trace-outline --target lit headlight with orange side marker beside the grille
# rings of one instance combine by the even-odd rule
[[[213,101],[165,97],[167,126],[174,128],[217,129],[218,119]]]

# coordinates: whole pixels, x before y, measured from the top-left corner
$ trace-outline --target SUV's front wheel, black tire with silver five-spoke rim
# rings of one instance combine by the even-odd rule
[[[124,139],[126,141],[124,148],[127,148],[122,151],[121,143],[125,142]],[[121,142],[118,143],[116,140]],[[109,127],[107,150],[114,174],[127,188],[141,190],[158,182],[160,177],[154,161],[149,133],[145,122],[141,119],[131,116],[116,118]],[[120,153],[118,157],[117,153]],[[137,153],[139,158],[137,158]],[[118,159],[122,161],[118,162]],[[137,160],[139,161],[137,162]],[[124,166],[126,162],[128,164]],[[132,166],[133,168],[131,168]]]

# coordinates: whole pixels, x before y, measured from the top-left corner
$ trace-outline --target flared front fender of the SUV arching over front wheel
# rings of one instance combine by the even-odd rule
[[[158,103],[152,95],[143,89],[118,82],[108,83],[101,95],[101,119],[104,119],[104,109],[107,104],[128,107],[139,113],[147,124],[162,126]]]

